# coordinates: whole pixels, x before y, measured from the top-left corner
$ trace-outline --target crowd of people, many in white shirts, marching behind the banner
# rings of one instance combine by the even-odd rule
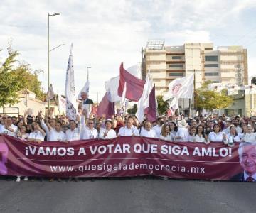
[[[105,116],[90,114],[86,118],[86,110],[79,109],[75,120],[65,116],[43,116],[39,111],[36,116],[0,115],[0,133],[20,138],[21,140],[42,143],[43,141],[78,141],[87,139],[112,139],[119,136],[144,136],[159,138],[164,141],[213,143],[223,142],[226,146],[234,143],[256,143],[256,120],[254,117],[240,117],[212,114],[196,116],[159,116],[156,121],[146,119],[139,123],[133,115]],[[19,182],[20,177],[17,178]],[[27,177],[24,180],[28,180]]]

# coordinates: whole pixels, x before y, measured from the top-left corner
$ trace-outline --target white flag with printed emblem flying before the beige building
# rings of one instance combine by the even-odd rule
[[[169,91],[164,94],[164,102],[173,97],[191,99],[193,96],[193,74],[178,77],[169,84]]]

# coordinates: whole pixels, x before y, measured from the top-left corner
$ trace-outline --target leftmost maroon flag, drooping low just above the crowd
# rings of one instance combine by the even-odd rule
[[[107,92],[102,98],[99,107],[97,107],[97,116],[102,116],[102,114],[106,115],[106,119],[110,119],[114,114],[114,103],[110,102],[107,98]]]

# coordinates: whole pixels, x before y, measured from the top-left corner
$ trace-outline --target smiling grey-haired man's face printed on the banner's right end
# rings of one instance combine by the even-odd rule
[[[240,163],[248,175],[256,173],[256,146],[248,145],[243,147]]]

